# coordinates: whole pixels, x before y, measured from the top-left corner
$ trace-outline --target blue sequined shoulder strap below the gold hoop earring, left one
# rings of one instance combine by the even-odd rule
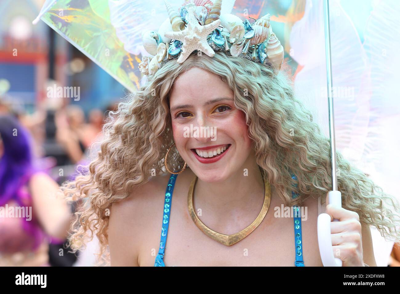
[[[168,185],[167,185],[167,188],[165,191],[164,212],[162,214],[160,249],[158,250],[158,254],[156,256],[154,266],[165,266],[164,261],[163,261],[164,250],[165,250],[165,244],[167,242],[168,226],[170,224],[172,192],[174,191],[175,180],[176,180],[177,176],[178,176],[177,174],[171,174],[170,180],[168,181]]]

